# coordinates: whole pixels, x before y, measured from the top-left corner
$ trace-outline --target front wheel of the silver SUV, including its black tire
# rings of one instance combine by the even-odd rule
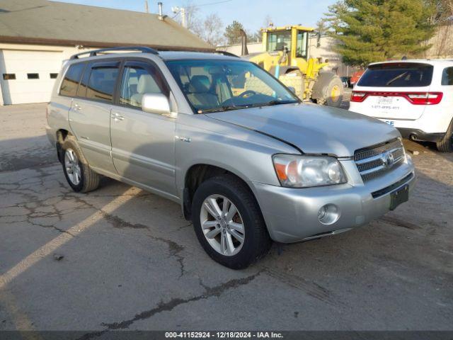
[[[227,200],[225,211],[234,212],[235,215],[225,217],[220,215],[220,220],[215,220],[213,215],[207,213],[206,202],[216,200],[217,207],[222,210],[225,199]],[[212,208],[212,205],[210,205]],[[223,212],[222,212],[223,213]],[[222,222],[223,219],[223,222]],[[266,229],[263,215],[256,202],[253,193],[243,181],[231,175],[216,176],[203,182],[195,192],[192,202],[192,220],[197,239],[207,254],[218,263],[231,269],[242,269],[251,265],[261,257],[265,256],[270,249],[268,230]],[[203,222],[202,222],[203,220]],[[228,222],[228,220],[231,220]],[[202,229],[203,225],[216,224],[214,227]],[[234,223],[234,224],[233,224]],[[240,228],[243,226],[243,242],[235,235],[241,235]],[[230,229],[231,228],[231,229]],[[219,231],[218,231],[219,230]],[[209,238],[205,233],[214,233],[216,236]],[[217,232],[217,234],[216,234]],[[222,249],[222,235],[225,237],[225,251]],[[212,235],[211,235],[212,236]],[[230,242],[234,251],[229,247]]]

